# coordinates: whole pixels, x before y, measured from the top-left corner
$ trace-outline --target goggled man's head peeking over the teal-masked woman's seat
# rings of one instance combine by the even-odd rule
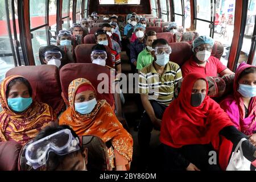
[[[57,46],[49,45],[39,49],[39,59],[41,63],[56,65],[61,68],[67,64],[64,52]]]

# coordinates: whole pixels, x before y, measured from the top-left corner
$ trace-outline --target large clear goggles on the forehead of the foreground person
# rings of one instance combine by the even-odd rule
[[[49,152],[66,155],[78,150],[79,138],[73,137],[71,130],[64,129],[29,144],[25,156],[27,164],[36,169],[46,164]]]

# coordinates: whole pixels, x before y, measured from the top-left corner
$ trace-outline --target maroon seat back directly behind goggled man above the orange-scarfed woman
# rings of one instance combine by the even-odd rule
[[[77,46],[75,49],[76,63],[92,63],[90,54],[92,53],[92,47],[95,45],[96,44],[81,44]],[[108,56],[106,65],[113,68],[111,49],[108,46],[105,46],[105,48]]]

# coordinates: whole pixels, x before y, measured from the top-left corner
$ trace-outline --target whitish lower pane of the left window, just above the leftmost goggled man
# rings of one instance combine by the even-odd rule
[[[41,46],[47,46],[46,27],[39,28],[38,30],[32,31],[33,38],[31,39],[32,48],[34,53],[35,64],[40,65],[40,59],[38,55],[39,48]]]

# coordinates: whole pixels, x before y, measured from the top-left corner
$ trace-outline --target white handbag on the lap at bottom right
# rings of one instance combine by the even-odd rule
[[[250,171],[251,162],[243,156],[242,142],[247,140],[242,138],[232,153],[226,171]]]

